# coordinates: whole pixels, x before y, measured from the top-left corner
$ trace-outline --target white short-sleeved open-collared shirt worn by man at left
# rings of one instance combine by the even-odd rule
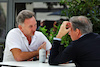
[[[21,49],[22,52],[36,51],[43,42],[46,42],[46,50],[49,50],[51,43],[41,32],[35,31],[29,45],[27,38],[21,30],[14,28],[7,34],[3,61],[15,61],[10,51],[13,48]]]

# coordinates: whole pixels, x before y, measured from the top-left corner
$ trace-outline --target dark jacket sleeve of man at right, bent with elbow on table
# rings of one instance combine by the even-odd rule
[[[61,41],[53,40],[53,45],[49,57],[50,65],[66,63],[74,58],[73,46],[69,45],[62,52],[59,52],[60,43]]]

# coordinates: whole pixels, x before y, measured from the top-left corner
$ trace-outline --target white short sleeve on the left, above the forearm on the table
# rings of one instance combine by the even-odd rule
[[[16,32],[9,32],[6,38],[6,45],[9,50],[13,48],[19,48],[21,49],[21,42],[20,42],[20,36],[16,34]]]

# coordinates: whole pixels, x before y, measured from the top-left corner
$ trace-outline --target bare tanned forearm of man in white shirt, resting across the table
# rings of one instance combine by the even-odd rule
[[[18,48],[13,48],[11,50],[14,59],[16,61],[24,61],[24,60],[28,60],[34,56],[38,56],[39,55],[39,50],[37,51],[32,51],[32,52],[22,52],[20,49]]]

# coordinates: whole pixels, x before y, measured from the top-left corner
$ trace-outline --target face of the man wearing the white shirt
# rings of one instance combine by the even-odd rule
[[[37,22],[34,17],[25,19],[24,25],[22,26],[22,32],[26,36],[33,36],[37,28]]]

